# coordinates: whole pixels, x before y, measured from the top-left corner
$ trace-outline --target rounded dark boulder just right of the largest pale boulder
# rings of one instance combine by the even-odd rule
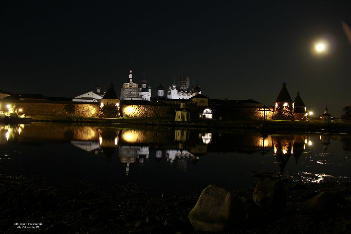
[[[261,209],[282,208],[286,201],[282,181],[272,177],[260,179],[253,191],[253,201]]]

